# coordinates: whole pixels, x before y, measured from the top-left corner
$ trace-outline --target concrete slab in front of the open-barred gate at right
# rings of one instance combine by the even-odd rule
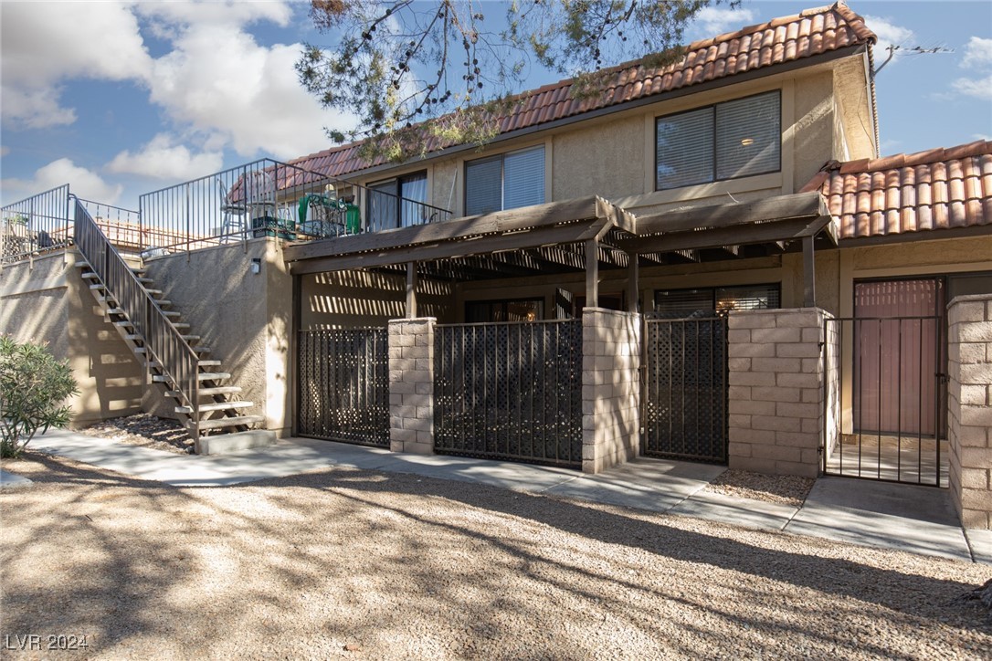
[[[820,478],[787,532],[971,561],[944,490]]]

